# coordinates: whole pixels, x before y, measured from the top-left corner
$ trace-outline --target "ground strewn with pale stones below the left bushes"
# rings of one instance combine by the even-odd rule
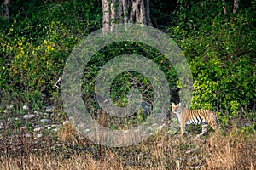
[[[8,105],[1,111],[0,152],[2,154],[64,151],[68,157],[71,152],[84,150],[98,156],[97,145],[80,136],[71,123],[63,118],[65,116],[58,115],[54,105],[49,105],[41,111],[32,111],[27,105],[20,108]],[[155,128],[156,125],[153,124],[151,127]],[[164,126],[160,126],[162,127]],[[148,128],[148,131],[150,130],[152,129]],[[170,127],[169,131],[175,133],[177,128]]]

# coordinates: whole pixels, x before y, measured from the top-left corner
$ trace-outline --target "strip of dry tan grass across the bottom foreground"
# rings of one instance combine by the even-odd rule
[[[78,142],[70,125],[61,132],[65,142],[82,142]],[[0,169],[255,169],[255,133],[245,138],[234,128],[226,135],[212,133],[204,138],[171,136],[164,129],[141,144],[124,148],[95,146],[95,152],[70,152],[68,157],[66,145],[58,152],[44,149],[15,156],[5,153],[0,157]]]

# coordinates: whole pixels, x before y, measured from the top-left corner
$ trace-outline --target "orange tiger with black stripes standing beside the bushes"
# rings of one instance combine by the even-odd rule
[[[186,125],[188,124],[201,124],[201,133],[196,135],[196,138],[200,138],[207,132],[208,124],[216,130],[221,129],[218,121],[218,116],[214,111],[201,109],[201,110],[187,110],[181,107],[181,103],[172,103],[172,111],[177,115],[178,122],[180,124],[180,133],[183,136],[186,133]]]

